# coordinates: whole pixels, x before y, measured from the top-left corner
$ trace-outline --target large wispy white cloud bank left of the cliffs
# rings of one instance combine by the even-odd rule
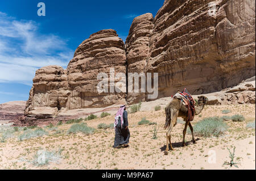
[[[56,35],[42,35],[38,24],[0,12],[0,82],[31,85],[38,68],[67,67],[73,50]]]

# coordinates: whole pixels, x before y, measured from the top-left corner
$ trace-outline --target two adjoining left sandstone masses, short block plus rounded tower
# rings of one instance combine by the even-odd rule
[[[50,119],[61,110],[125,104],[125,93],[111,93],[110,83],[108,92],[97,90],[97,75],[105,73],[109,78],[110,68],[114,76],[126,73],[125,45],[114,30],[93,33],[76,49],[67,70],[46,66],[36,71],[25,115],[32,120]]]

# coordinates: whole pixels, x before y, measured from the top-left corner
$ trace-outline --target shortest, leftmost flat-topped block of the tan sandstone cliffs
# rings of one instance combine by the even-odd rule
[[[61,66],[46,66],[36,70],[25,115],[56,115],[65,108],[68,96],[67,70]]]

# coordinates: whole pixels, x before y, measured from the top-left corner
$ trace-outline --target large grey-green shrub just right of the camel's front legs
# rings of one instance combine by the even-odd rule
[[[203,137],[220,136],[228,129],[228,125],[220,117],[207,117],[196,123],[193,130]],[[191,133],[190,129],[188,132]]]

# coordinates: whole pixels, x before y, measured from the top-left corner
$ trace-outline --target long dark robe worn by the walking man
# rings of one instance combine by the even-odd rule
[[[114,148],[117,148],[119,145],[127,145],[130,140],[130,131],[128,127],[128,113],[123,111],[123,126],[121,127],[121,118],[119,117],[117,127],[115,127],[115,141]]]

